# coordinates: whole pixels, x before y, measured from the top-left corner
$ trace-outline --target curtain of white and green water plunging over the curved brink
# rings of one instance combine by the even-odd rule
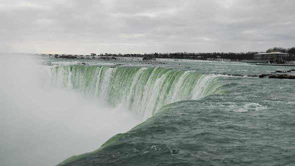
[[[53,86],[77,89],[111,106],[125,105],[143,120],[162,106],[218,93],[218,76],[163,68],[48,66]]]

